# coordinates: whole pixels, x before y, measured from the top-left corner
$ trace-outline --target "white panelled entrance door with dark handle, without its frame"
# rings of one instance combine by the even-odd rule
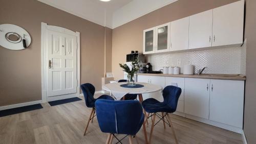
[[[76,36],[47,30],[47,96],[76,93]]]

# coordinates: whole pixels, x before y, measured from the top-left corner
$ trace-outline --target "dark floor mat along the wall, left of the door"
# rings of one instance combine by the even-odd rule
[[[35,104],[35,105],[30,105],[30,106],[1,110],[0,117],[17,114],[17,113],[22,113],[22,112],[27,112],[27,111],[36,110],[36,109],[41,109],[41,108],[43,108],[41,104]]]

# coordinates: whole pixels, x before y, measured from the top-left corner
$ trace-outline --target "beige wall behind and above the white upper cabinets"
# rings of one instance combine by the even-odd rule
[[[126,60],[131,50],[143,51],[143,30],[226,5],[238,0],[179,0],[113,30],[112,71],[115,79],[121,79],[123,73],[118,63]]]

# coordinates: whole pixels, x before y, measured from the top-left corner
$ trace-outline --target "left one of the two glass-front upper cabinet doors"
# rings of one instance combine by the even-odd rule
[[[143,31],[143,54],[153,54],[155,45],[155,28]]]

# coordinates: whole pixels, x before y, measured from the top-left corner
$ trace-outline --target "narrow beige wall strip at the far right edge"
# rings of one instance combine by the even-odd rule
[[[246,84],[244,107],[244,132],[247,142],[256,143],[256,1],[246,0],[245,38],[246,50]]]

